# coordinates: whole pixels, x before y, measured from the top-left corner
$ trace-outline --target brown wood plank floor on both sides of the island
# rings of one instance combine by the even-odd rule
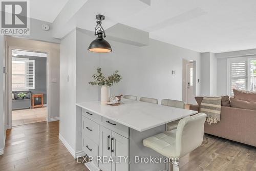
[[[58,139],[59,122],[38,122],[8,130],[0,170],[84,170]],[[256,170],[256,148],[205,135],[203,144],[180,159],[180,170]],[[122,171],[122,170],[118,170]],[[131,170],[136,171],[136,170]]]

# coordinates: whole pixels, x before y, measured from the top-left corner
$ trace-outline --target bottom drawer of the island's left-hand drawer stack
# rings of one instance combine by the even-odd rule
[[[82,137],[82,143],[82,150],[84,153],[86,153],[87,156],[92,157],[92,161],[98,165],[97,156],[99,156],[99,145],[86,136]]]

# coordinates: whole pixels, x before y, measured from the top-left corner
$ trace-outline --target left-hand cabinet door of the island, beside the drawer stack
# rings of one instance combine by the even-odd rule
[[[99,167],[102,171],[111,171],[112,163],[108,162],[111,157],[111,130],[100,125],[99,128]],[[104,158],[104,160],[103,160]]]

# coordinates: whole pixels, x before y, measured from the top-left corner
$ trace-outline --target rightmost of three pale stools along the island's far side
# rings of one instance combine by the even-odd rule
[[[167,105],[175,108],[185,109],[185,103],[183,101],[178,101],[178,100],[163,99],[161,101],[161,105]],[[179,121],[180,120],[176,120],[176,121],[167,123],[166,130],[171,131],[171,130],[177,129]]]

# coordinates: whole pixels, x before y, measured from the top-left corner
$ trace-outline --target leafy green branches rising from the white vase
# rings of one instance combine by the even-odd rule
[[[93,74],[94,81],[89,82],[92,86],[113,86],[114,83],[118,83],[122,76],[118,74],[118,70],[116,70],[113,75],[105,77],[101,72],[101,68],[97,68],[97,73]]]

